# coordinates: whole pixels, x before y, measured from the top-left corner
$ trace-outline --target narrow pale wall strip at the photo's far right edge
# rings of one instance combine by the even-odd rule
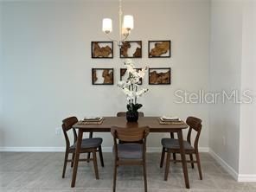
[[[253,91],[253,104],[240,107],[240,167],[243,177],[256,177],[256,2],[246,1],[243,6],[241,88]],[[248,156],[248,154],[250,154]],[[254,180],[255,182],[255,180]]]

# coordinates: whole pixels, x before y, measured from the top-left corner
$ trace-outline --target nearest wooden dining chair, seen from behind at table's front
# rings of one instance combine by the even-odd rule
[[[146,176],[146,138],[149,134],[149,127],[122,128],[112,127],[114,146],[114,172],[113,172],[113,192],[116,191],[117,168],[120,165],[142,165],[144,170],[144,191],[147,191]],[[133,142],[143,140],[142,144],[118,144],[117,140]]]

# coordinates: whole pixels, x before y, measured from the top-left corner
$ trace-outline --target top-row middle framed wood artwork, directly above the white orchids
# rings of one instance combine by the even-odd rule
[[[120,48],[120,58],[141,58],[142,41],[125,41]]]

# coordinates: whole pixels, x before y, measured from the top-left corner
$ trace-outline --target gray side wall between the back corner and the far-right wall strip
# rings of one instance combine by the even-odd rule
[[[211,2],[210,89],[240,90],[242,3]],[[210,106],[209,145],[236,172],[239,169],[240,105]]]

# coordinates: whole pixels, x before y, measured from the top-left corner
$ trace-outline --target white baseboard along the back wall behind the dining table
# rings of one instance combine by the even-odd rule
[[[63,152],[65,147],[0,147],[2,152]],[[112,152],[112,147],[102,147],[103,152]],[[147,152],[161,152],[162,147],[147,147]],[[200,147],[200,152],[208,152],[208,147]]]

